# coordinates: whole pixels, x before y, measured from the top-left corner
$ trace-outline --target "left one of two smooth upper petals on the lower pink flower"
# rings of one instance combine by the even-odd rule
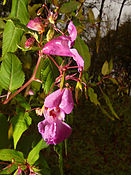
[[[44,106],[48,108],[57,107],[62,98],[63,91],[61,89],[56,90],[45,98]]]

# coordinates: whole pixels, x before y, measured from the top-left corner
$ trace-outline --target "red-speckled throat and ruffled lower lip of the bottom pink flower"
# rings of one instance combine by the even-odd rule
[[[38,130],[47,144],[59,144],[67,139],[72,129],[64,120],[65,113],[60,108],[44,108],[45,120],[38,123]]]

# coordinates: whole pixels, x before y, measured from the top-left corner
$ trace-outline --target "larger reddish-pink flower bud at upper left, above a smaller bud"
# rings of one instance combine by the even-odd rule
[[[36,17],[27,24],[27,27],[36,30],[39,33],[42,33],[45,30],[44,24],[42,23],[41,19]]]

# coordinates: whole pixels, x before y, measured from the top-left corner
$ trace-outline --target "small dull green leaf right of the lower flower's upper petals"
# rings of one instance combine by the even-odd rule
[[[95,105],[100,105],[100,102],[97,99],[97,94],[94,92],[93,88],[88,87],[88,95],[92,103],[94,103]]]

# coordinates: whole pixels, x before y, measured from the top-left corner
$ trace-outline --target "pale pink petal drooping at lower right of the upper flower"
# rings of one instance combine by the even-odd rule
[[[79,55],[79,53],[77,52],[76,49],[70,49],[70,51],[73,54],[73,59],[76,61],[77,65],[79,67],[82,67],[84,70],[84,60],[83,58]],[[80,68],[78,68],[78,70],[80,71]]]

